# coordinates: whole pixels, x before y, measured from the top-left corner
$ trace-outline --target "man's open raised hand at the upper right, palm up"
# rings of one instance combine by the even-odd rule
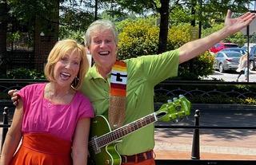
[[[238,18],[231,18],[232,11],[227,10],[225,26],[230,26],[230,32],[235,33],[248,26],[255,18],[255,14],[247,12]]]

